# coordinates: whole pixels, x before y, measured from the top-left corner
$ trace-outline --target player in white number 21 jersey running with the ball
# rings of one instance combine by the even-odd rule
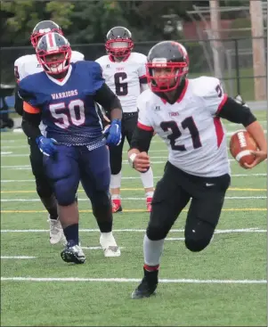
[[[190,200],[185,246],[198,252],[212,240],[231,180],[221,118],[242,124],[258,145],[256,160],[244,168],[253,168],[267,158],[264,130],[249,108],[223,94],[217,78],[187,79],[188,68],[183,45],[164,41],[150,49],[150,90],[137,101],[138,126],[128,157],[138,171],[150,167],[147,151],[153,131],[166,142],[169,156],[153,196],[144,236],[144,276],[132,298],[150,297],[157,289],[166,235]]]

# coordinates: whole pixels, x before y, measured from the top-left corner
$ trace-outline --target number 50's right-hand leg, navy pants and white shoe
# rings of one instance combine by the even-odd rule
[[[110,200],[110,161],[106,146],[89,151],[83,147],[80,156],[81,183],[91,200],[93,216],[101,231],[100,243],[105,257],[120,256],[120,249],[112,234],[112,206]]]

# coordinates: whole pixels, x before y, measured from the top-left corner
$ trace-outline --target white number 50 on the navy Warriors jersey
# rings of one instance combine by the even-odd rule
[[[82,100],[72,100],[68,105],[65,102],[50,104],[49,110],[57,121],[57,127],[65,129],[70,125],[80,126],[85,123],[85,105]]]

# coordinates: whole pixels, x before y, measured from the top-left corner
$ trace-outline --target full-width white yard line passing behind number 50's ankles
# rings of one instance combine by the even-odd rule
[[[145,233],[145,229],[113,229],[113,233]],[[2,229],[1,233],[48,233],[49,229]],[[100,233],[99,229],[79,229],[80,232],[85,233]],[[171,229],[169,233],[183,233],[184,229]],[[266,233],[266,229],[258,227],[238,228],[238,229],[216,229],[215,233]]]

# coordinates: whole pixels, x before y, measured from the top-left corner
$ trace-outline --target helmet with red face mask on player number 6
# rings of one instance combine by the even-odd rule
[[[105,48],[112,57],[126,59],[134,48],[131,32],[121,26],[107,33]]]

